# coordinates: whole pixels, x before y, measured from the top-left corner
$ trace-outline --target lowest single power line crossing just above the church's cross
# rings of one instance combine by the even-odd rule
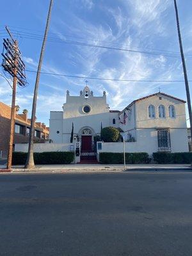
[[[28,70],[26,72],[36,73],[35,70]],[[89,77],[89,76],[75,76],[75,75],[64,75],[64,74],[56,74],[56,73],[49,73],[49,72],[40,72],[44,75],[51,75],[51,76],[62,76],[62,77],[72,77],[72,78],[80,78],[80,79],[92,79],[92,80],[102,80],[102,81],[120,81],[120,82],[157,82],[157,83],[181,83],[184,80],[136,80],[136,79],[109,79],[104,77]],[[190,81],[190,80],[189,80]],[[192,82],[192,80],[190,81]]]

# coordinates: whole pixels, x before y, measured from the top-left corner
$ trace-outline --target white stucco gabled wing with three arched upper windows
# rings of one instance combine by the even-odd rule
[[[160,92],[134,100],[119,114],[128,116],[120,127],[146,152],[188,152],[185,103]]]

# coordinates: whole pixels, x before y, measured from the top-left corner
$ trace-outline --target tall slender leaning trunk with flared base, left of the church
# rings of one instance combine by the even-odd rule
[[[33,159],[33,140],[34,140],[34,132],[35,132],[35,113],[36,113],[36,100],[38,96],[38,86],[39,86],[39,81],[40,81],[40,71],[42,68],[42,61],[44,58],[44,52],[45,52],[45,43],[47,40],[47,33],[49,30],[49,23],[51,19],[51,9],[52,9],[52,3],[53,0],[50,1],[49,4],[49,12],[47,15],[47,23],[46,23],[46,28],[45,28],[45,33],[44,33],[44,41],[42,44],[42,50],[40,53],[40,59],[38,62],[38,69],[36,72],[36,81],[35,81],[35,89],[34,89],[34,95],[33,95],[33,106],[32,106],[32,114],[31,114],[31,129],[29,132],[29,148],[28,148],[28,158],[25,164],[25,168],[32,169],[35,167],[34,164],[34,159]]]

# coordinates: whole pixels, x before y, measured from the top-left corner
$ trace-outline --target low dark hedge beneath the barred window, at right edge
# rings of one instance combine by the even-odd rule
[[[192,152],[156,152],[153,153],[154,161],[158,164],[190,164],[192,163]]]

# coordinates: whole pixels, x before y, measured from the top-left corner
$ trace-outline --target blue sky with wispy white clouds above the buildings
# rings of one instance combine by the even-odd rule
[[[184,52],[188,57],[188,79],[192,80],[192,2],[177,0],[177,4]],[[48,0],[1,3],[1,45],[3,37],[8,37],[4,29],[7,25],[19,41],[27,70],[37,69],[48,8]],[[42,72],[137,80],[88,79],[88,86],[95,96],[101,96],[105,90],[110,109],[122,110],[132,100],[159,92],[159,88],[161,92],[186,100],[184,82],[140,81],[184,80],[178,54],[173,0],[54,0]],[[0,74],[3,74],[2,68]],[[20,106],[20,113],[22,109],[29,110],[29,118],[35,75],[26,72],[27,86],[17,86],[16,104]],[[50,111],[62,111],[66,91],[69,90],[70,95],[79,95],[85,80],[42,74],[36,109],[38,122],[49,125]],[[10,105],[11,100],[12,89],[0,76],[0,101]]]

